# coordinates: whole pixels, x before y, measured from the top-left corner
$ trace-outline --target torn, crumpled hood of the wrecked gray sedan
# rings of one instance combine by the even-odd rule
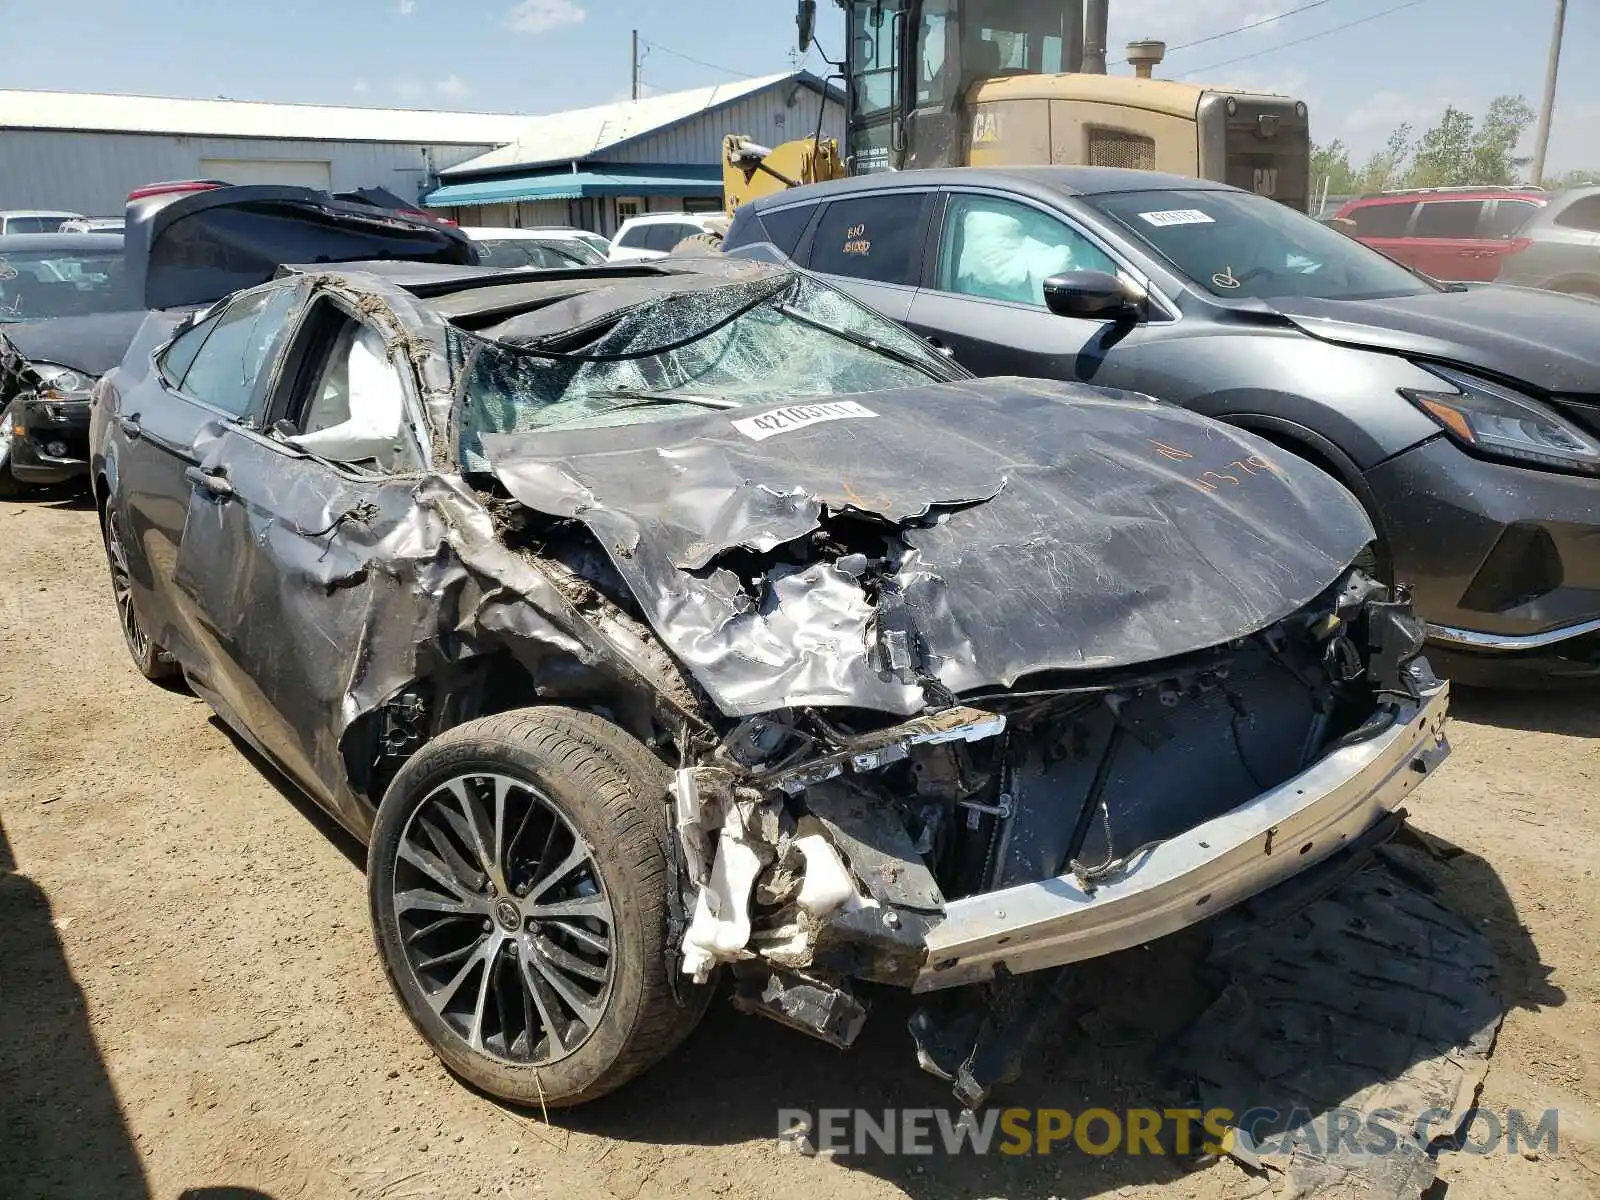
[[[522,504],[595,534],[730,715],[912,714],[939,686],[1206,650],[1304,606],[1373,538],[1342,486],[1250,434],[1030,379],[483,445]],[[853,515],[880,528],[864,541]]]

